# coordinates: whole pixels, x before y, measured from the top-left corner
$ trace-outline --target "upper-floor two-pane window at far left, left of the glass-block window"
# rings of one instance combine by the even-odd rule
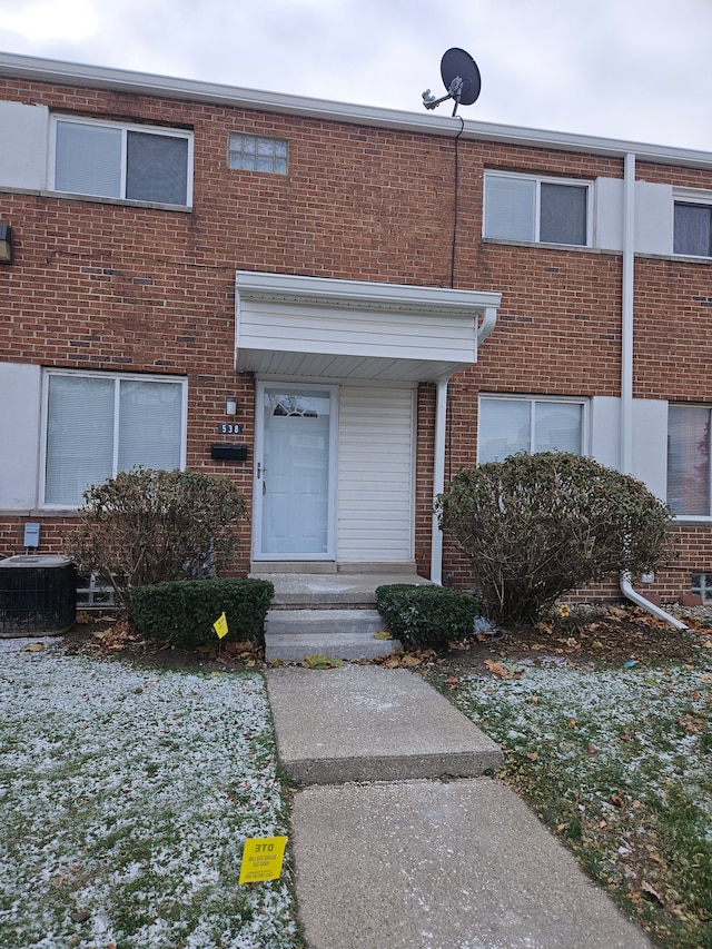
[[[55,191],[190,205],[191,132],[73,117],[55,117],[53,132]]]

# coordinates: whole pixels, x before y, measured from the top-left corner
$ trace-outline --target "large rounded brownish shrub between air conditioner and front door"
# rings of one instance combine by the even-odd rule
[[[134,468],[83,496],[67,553],[111,584],[129,616],[134,587],[215,576],[239,546],[245,500],[228,477]]]

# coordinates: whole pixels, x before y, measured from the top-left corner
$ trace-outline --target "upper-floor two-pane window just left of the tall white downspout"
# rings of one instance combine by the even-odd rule
[[[485,175],[485,237],[591,244],[592,185],[528,175]]]

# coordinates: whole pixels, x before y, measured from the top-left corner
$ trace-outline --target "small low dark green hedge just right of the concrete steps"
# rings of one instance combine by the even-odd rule
[[[393,583],[376,590],[376,606],[403,645],[443,649],[473,634],[479,603],[461,590]]]

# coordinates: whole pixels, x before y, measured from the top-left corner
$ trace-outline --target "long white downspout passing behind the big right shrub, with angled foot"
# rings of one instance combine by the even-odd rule
[[[621,312],[621,464],[623,474],[633,473],[633,319],[635,287],[635,155],[627,152],[623,174],[623,288]],[[633,590],[631,572],[621,571],[621,593],[640,606],[670,623],[675,630],[688,626],[676,616],[651,603]]]

